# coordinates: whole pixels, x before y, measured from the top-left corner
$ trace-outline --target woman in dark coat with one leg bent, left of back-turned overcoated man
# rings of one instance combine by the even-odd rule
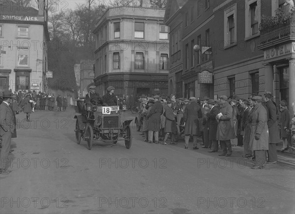
[[[167,139],[168,139],[168,136],[169,134],[175,134],[177,132],[177,127],[176,127],[176,121],[175,121],[175,115],[173,113],[173,110],[171,108],[172,106],[172,101],[168,101],[167,102],[167,106],[165,107],[165,113],[164,113],[164,116],[165,116],[165,138],[164,138],[164,141],[163,141],[163,145],[167,145]],[[173,143],[173,142],[171,142]]]

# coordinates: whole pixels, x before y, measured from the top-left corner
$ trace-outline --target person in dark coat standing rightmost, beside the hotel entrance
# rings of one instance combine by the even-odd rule
[[[282,100],[280,103],[280,118],[279,118],[279,126],[280,126],[280,137],[283,139],[283,148],[282,152],[288,150],[288,137],[289,134],[287,130],[290,128],[290,113],[287,108],[287,102]]]

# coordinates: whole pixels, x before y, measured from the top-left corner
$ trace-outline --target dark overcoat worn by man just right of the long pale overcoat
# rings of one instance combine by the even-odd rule
[[[266,102],[266,108],[267,108],[267,126],[269,131],[269,138],[268,143],[279,143],[281,141],[280,139],[280,132],[278,128],[277,123],[277,117],[276,117],[276,107],[272,103],[271,100]]]

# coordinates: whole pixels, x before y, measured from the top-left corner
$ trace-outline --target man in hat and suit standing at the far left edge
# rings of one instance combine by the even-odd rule
[[[8,154],[10,151],[11,136],[15,130],[14,113],[9,107],[12,93],[9,90],[3,91],[3,102],[0,104],[0,135],[2,148],[0,151],[0,174],[9,174]]]

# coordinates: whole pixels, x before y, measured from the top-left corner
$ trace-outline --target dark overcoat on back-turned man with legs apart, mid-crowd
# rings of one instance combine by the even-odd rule
[[[185,107],[183,112],[184,134],[199,134],[199,118],[202,118],[202,109],[196,102]]]

